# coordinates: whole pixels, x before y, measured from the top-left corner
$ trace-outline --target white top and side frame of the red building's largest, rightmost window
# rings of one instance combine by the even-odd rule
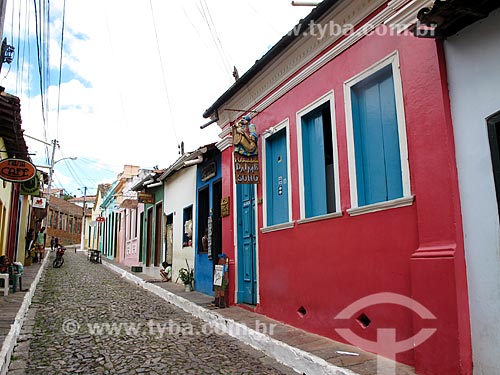
[[[356,182],[356,155],[354,150],[354,128],[352,120],[352,98],[351,88],[365,78],[370,77],[380,69],[386,66],[392,66],[392,75],[394,81],[394,96],[396,101],[396,116],[398,121],[399,152],[401,161],[401,178],[403,182],[403,197],[408,198],[410,191],[410,170],[408,165],[408,145],[406,139],[406,121],[403,102],[403,86],[401,83],[399,54],[394,51],[387,57],[371,65],[367,69],[358,73],[354,77],[344,82],[345,114],[346,114],[346,137],[347,137],[347,156],[349,164],[349,181],[351,193],[351,208],[358,207],[358,187]]]

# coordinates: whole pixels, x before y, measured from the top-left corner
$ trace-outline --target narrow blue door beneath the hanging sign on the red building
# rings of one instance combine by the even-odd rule
[[[236,185],[238,200],[238,303],[257,303],[254,185]]]

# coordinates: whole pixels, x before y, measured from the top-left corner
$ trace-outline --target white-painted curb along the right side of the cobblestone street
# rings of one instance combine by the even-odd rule
[[[315,375],[359,375],[352,370],[338,367],[328,363],[323,358],[315,356],[301,349],[295,348],[282,341],[273,339],[259,331],[249,328],[245,324],[228,319],[217,312],[207,310],[183,297],[180,297],[168,290],[160,288],[153,283],[147,283],[138,276],[121,269],[105,260],[103,266],[118,273],[122,278],[127,279],[138,286],[146,289],[167,302],[181,308],[193,316],[210,324],[214,329],[232,336],[243,343],[250,345],[266,355],[274,358],[285,366],[292,368],[298,373]]]

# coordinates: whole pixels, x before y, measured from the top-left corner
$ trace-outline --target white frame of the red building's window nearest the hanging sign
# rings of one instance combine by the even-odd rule
[[[262,205],[262,217],[264,221],[264,228],[267,228],[267,163],[266,163],[266,146],[267,139],[273,134],[285,129],[285,139],[286,139],[286,157],[287,157],[287,191],[288,191],[288,221],[292,219],[292,179],[291,179],[291,168],[290,168],[290,120],[289,118],[284,119],[275,126],[271,126],[262,133],[262,195],[263,195],[263,205]],[[275,227],[273,225],[272,227]],[[258,228],[258,227],[257,227]],[[264,233],[264,232],[262,232]]]

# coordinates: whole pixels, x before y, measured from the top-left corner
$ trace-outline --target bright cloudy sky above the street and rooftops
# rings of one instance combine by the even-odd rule
[[[168,167],[181,142],[186,151],[216,142],[220,129],[200,129],[202,114],[234,83],[233,67],[243,75],[312,10],[289,0],[36,4],[7,2],[3,38],[16,52],[0,85],[21,98],[34,164],[50,164],[57,140],[52,186],[76,196],[95,194],[126,164]]]

